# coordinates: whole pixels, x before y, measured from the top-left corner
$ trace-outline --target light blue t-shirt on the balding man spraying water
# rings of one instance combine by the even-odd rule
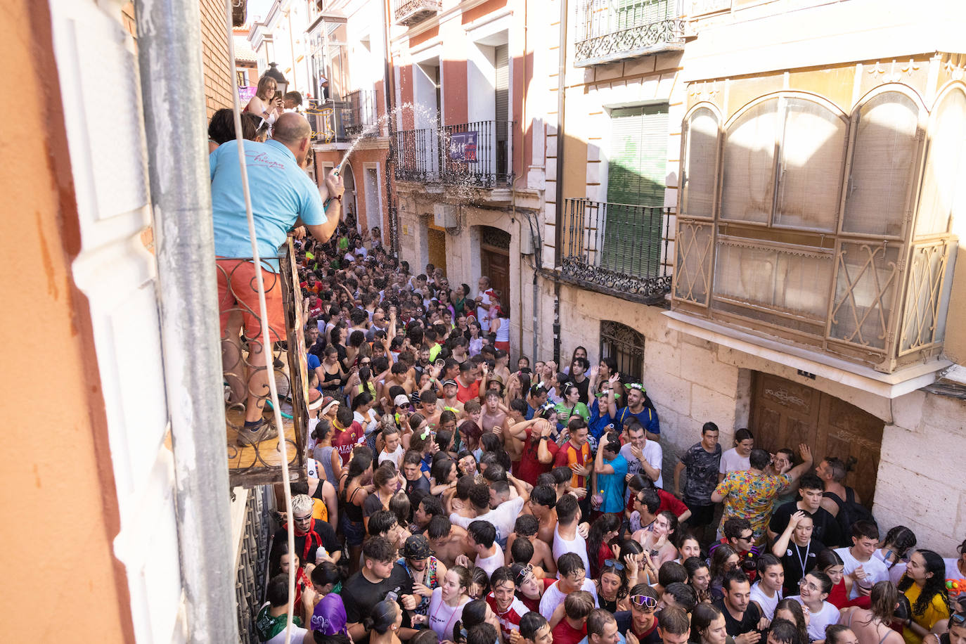
[[[319,186],[298,167],[295,154],[277,141],[245,141],[244,154],[258,252],[262,258],[278,257],[278,248],[298,217],[310,226],[326,221]],[[221,144],[208,159],[212,175],[214,254],[250,258],[238,141]],[[270,265],[277,269],[278,263]]]

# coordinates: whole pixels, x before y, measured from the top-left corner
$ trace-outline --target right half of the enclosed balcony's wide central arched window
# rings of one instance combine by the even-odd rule
[[[845,122],[825,106],[786,98],[775,224],[833,231],[845,162]]]

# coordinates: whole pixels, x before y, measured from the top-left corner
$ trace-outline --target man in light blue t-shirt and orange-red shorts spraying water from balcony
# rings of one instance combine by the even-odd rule
[[[270,342],[285,339],[281,284],[277,275],[278,248],[294,226],[304,225],[313,238],[326,242],[339,223],[345,190],[342,180],[330,174],[326,185],[317,186],[302,169],[305,157],[312,152],[311,134],[305,117],[287,113],[275,122],[271,141],[243,142],[255,238],[262,259]],[[218,308],[227,371],[240,371],[237,365],[241,364],[239,335],[242,330],[248,339],[248,363],[260,365],[265,359],[238,145],[237,141],[228,141],[209,155]],[[328,196],[332,201],[326,210],[323,204]],[[229,328],[232,311],[241,312],[241,327]],[[249,394],[244,426],[238,436],[240,446],[277,435],[277,430],[268,427],[262,418],[265,399],[256,393],[268,391],[268,372],[248,371],[245,378]]]

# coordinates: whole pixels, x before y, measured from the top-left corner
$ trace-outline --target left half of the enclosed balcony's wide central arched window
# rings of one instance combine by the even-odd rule
[[[768,223],[774,197],[779,99],[755,105],[725,135],[722,217]]]

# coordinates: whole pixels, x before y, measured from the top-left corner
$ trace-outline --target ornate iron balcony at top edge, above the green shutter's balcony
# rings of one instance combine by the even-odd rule
[[[684,48],[684,20],[672,0],[580,0],[574,67]]]

